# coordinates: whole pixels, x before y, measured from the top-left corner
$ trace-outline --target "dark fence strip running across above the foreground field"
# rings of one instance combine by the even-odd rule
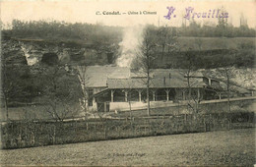
[[[128,139],[254,127],[254,113],[219,113],[148,118],[97,119],[70,122],[9,122],[1,124],[2,148],[103,139]]]

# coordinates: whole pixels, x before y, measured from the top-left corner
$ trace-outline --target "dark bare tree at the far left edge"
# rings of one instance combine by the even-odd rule
[[[28,103],[32,97],[32,83],[27,60],[15,41],[2,42],[1,55],[1,95],[9,119],[9,106]]]

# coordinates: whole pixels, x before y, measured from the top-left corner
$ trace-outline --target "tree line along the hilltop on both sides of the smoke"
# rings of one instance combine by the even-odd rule
[[[122,28],[108,27],[100,24],[66,23],[58,21],[20,21],[13,20],[11,25],[5,26],[4,32],[16,37],[51,38],[51,39],[79,39],[84,41],[100,40],[111,42],[121,38]],[[169,27],[170,28],[170,27]],[[197,37],[255,37],[256,29],[247,25],[233,27],[226,21],[220,20],[217,25],[201,26],[191,21],[189,26],[172,27],[177,36]]]

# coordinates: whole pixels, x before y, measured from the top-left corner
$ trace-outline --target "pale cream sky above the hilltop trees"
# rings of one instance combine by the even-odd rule
[[[6,1],[2,0],[1,21],[4,24],[11,23],[13,19],[24,21],[30,20],[57,20],[69,23],[100,23],[108,26],[134,26],[138,24],[154,24],[180,26],[182,16],[185,14],[185,8],[191,6],[195,12],[209,12],[224,7],[229,15],[228,22],[233,26],[239,26],[241,14],[247,19],[248,26],[256,28],[256,1]],[[167,14],[167,6],[176,8],[176,18],[166,20],[163,18]],[[105,16],[96,15],[96,11],[151,11],[158,12],[158,15],[120,15]],[[230,19],[231,18],[231,19]],[[200,23],[217,22],[217,19],[195,19]]]

